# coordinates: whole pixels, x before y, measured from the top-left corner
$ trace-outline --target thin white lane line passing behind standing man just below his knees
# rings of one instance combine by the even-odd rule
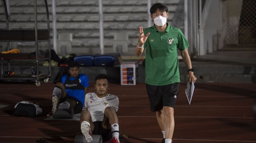
[[[118,116],[123,118],[156,118],[156,116]],[[238,118],[253,119],[254,117],[218,117],[218,116],[174,116],[174,118]]]

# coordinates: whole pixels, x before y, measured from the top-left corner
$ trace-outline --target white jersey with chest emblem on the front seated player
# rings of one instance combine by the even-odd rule
[[[99,98],[96,93],[87,93],[85,95],[84,106],[91,113],[93,122],[102,121],[106,107],[113,107],[118,111],[119,100],[116,95],[107,94],[107,96]]]

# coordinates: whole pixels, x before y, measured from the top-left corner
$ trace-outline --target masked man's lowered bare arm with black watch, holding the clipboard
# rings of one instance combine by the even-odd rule
[[[181,55],[182,55],[182,59],[184,61],[184,63],[187,66],[187,69],[191,69],[192,68],[192,64],[191,64],[191,59],[189,57],[189,53],[187,52],[187,50],[182,50],[181,51]],[[193,81],[194,83],[196,82],[196,77],[194,76],[194,72],[193,71],[189,71],[189,82]]]

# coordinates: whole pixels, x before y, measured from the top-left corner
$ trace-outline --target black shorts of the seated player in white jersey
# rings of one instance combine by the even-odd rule
[[[111,129],[104,129],[101,126],[102,121],[95,121],[93,122],[94,124],[94,129],[93,129],[93,134],[98,134],[102,136],[102,142],[104,141],[109,141],[112,138],[112,132]]]

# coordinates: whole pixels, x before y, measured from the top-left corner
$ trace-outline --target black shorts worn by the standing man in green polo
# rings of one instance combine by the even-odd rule
[[[179,82],[165,86],[153,86],[146,84],[152,112],[163,109],[163,106],[174,108],[179,93]]]

